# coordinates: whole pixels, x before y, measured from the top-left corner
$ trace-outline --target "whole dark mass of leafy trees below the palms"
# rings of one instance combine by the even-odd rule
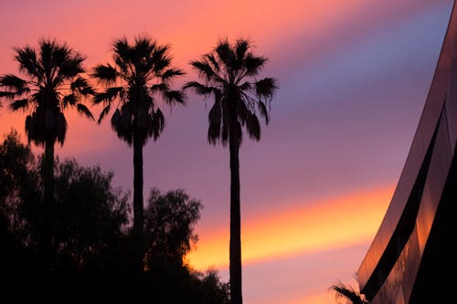
[[[228,304],[228,284],[215,270],[196,271],[185,255],[197,242],[202,204],[184,190],[153,189],[145,209],[148,271],[138,273],[127,193],[112,187],[112,173],[56,160],[52,271],[43,280],[39,240],[44,188],[37,160],[16,132],[0,144],[0,278],[3,297],[16,301],[125,300]],[[27,290],[27,292],[24,292]]]

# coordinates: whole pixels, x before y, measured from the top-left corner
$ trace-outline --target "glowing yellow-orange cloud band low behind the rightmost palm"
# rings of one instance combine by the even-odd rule
[[[244,223],[243,263],[368,243],[377,232],[393,190],[392,185],[382,186]],[[206,238],[187,257],[189,264],[197,269],[227,267],[228,227],[203,234]]]

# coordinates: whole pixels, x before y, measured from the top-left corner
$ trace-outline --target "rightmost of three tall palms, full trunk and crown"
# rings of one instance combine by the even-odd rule
[[[277,81],[272,78],[256,79],[267,58],[252,52],[250,41],[239,38],[234,44],[228,40],[191,65],[203,82],[190,81],[185,89],[194,89],[198,95],[213,96],[209,110],[207,141],[220,141],[230,152],[230,246],[229,272],[231,302],[242,303],[241,296],[241,218],[239,212],[239,147],[242,127],[250,139],[260,140],[260,122],[257,113],[268,124],[270,103]]]

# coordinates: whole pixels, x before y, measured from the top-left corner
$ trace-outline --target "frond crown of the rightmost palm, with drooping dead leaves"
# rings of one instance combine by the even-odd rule
[[[228,40],[219,41],[218,46],[191,65],[204,82],[190,81],[185,89],[195,89],[197,94],[214,96],[209,110],[207,140],[215,144],[220,140],[226,145],[233,136],[241,143],[245,126],[251,139],[260,140],[260,122],[256,113],[268,124],[270,102],[276,79],[255,79],[267,58],[255,56],[250,41],[239,38],[230,45]]]

